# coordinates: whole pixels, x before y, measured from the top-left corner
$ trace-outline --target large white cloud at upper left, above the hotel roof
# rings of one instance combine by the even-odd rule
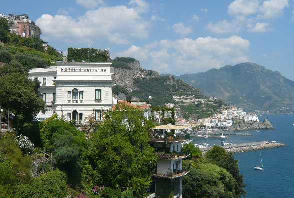
[[[103,40],[126,44],[133,37],[147,38],[150,26],[136,9],[126,6],[101,6],[96,10],[87,11],[78,19],[45,14],[36,20],[36,24],[42,30],[42,37],[64,40],[70,44],[72,41],[92,44]]]

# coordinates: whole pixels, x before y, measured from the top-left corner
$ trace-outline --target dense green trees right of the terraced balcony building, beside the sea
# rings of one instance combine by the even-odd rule
[[[194,145],[190,144],[192,149]],[[184,147],[188,147],[186,145]],[[243,177],[232,154],[216,145],[203,157],[197,151],[194,153],[192,159],[183,161],[183,166],[190,166],[190,173],[183,177],[183,197],[241,197],[246,194]]]

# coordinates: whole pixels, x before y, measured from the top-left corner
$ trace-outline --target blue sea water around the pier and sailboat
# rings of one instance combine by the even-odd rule
[[[270,121],[274,129],[224,131],[229,138],[227,143],[246,143],[256,141],[276,141],[286,144],[285,147],[233,154],[238,160],[240,173],[243,175],[246,197],[294,197],[294,115],[261,115]],[[250,136],[233,135],[249,133]],[[218,138],[192,137],[193,143],[208,143],[209,146],[221,145]],[[262,156],[263,170],[253,167],[260,164]]]

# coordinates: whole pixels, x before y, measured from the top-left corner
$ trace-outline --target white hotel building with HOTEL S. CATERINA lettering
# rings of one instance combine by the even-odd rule
[[[90,115],[102,119],[102,111],[110,109],[114,80],[111,63],[58,62],[49,68],[29,70],[29,78],[41,82],[39,91],[46,102],[46,111],[37,118],[53,113],[81,125]]]

